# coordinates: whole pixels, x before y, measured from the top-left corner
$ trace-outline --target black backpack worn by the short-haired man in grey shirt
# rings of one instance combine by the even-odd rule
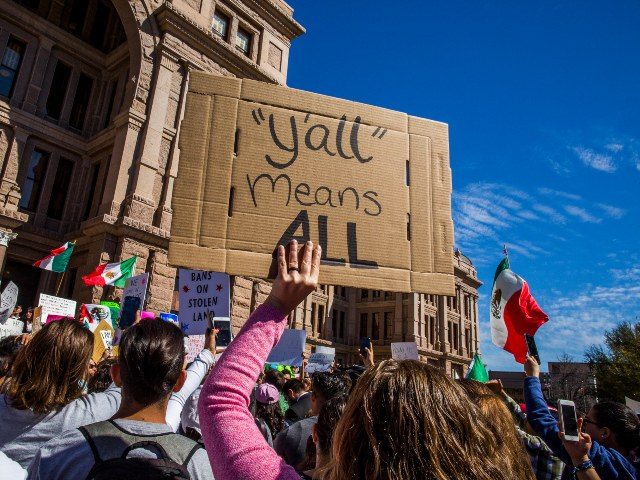
[[[91,480],[190,479],[187,465],[202,445],[177,433],[135,435],[113,420],[80,427],[91,447],[95,464],[87,475]],[[151,447],[158,458],[128,458],[131,451]],[[167,453],[169,452],[169,453]]]

